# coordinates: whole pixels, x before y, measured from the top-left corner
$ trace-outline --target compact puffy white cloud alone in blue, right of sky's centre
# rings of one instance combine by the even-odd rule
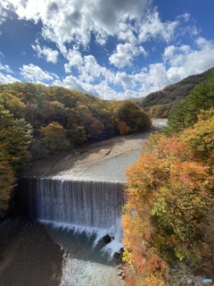
[[[109,57],[109,61],[118,68],[124,68],[132,63],[135,56],[141,54],[146,55],[143,46],[133,46],[130,43],[119,44],[116,52]]]

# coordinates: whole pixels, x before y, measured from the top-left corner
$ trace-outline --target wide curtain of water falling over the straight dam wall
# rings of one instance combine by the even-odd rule
[[[23,178],[21,185],[28,189],[31,218],[85,231],[118,228],[124,182]]]

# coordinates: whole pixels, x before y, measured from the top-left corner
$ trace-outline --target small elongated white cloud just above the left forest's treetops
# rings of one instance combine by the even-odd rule
[[[30,63],[29,65],[23,64],[21,70],[21,76],[24,80],[32,81],[32,82],[44,82],[44,81],[52,81],[54,79],[58,79],[58,76],[53,72],[43,71],[37,65]]]

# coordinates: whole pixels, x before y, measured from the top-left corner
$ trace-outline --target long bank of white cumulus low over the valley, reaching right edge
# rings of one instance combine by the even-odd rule
[[[99,65],[94,56],[84,56],[82,65],[78,67],[78,78],[68,76],[62,81],[55,80],[54,84],[103,99],[145,97],[153,91],[183,80],[190,74],[206,71],[213,66],[214,44],[204,38],[197,38],[195,45],[194,49],[188,45],[167,46],[162,62],[151,63],[142,71],[131,74],[125,71],[109,71]],[[97,84],[95,79],[98,78],[103,80]],[[119,87],[123,91],[118,91]]]

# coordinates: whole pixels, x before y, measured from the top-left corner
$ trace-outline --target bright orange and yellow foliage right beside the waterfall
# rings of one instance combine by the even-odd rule
[[[184,132],[191,142],[206,124],[196,127]],[[176,257],[198,267],[210,259],[213,246],[203,229],[214,206],[213,174],[189,142],[182,134],[152,135],[127,171],[122,221],[128,285],[167,285],[167,262]],[[209,142],[206,147],[211,154],[214,147]]]

